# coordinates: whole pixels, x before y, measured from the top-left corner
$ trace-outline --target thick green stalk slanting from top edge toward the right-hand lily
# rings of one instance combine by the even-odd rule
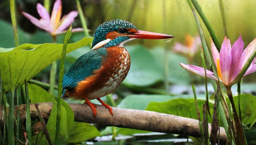
[[[201,6],[199,5],[197,0],[191,0],[191,2],[194,5],[194,7],[195,7],[196,11],[198,12],[199,16],[201,17],[201,19],[203,20],[204,25],[206,26],[207,30],[209,31],[209,33],[212,37],[212,41],[214,42],[216,48],[218,49],[218,51],[220,51],[221,50],[221,43],[219,42],[218,37],[216,36],[215,32],[213,31],[211,24],[209,23],[209,21],[205,17]],[[190,1],[189,1],[189,3],[190,3]]]

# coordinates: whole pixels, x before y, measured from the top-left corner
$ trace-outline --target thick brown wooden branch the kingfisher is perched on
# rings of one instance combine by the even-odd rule
[[[192,137],[200,137],[199,122],[195,119],[180,117],[175,115],[150,112],[134,109],[113,109],[113,116],[104,106],[97,105],[97,116],[94,118],[93,112],[87,104],[69,103],[75,114],[75,121],[84,123],[97,123],[106,126],[116,126],[122,128],[132,128],[145,131],[162,132],[168,134],[182,134]],[[38,103],[38,108],[44,118],[48,118],[52,110],[52,103]],[[15,108],[16,115],[17,106]],[[26,119],[26,104],[19,105],[20,120]],[[38,113],[34,104],[30,104],[32,118],[38,118]],[[0,118],[2,118],[0,116]],[[211,132],[211,124],[209,124]],[[220,142],[226,143],[227,135],[223,127],[220,128]],[[217,141],[218,142],[218,141]]]

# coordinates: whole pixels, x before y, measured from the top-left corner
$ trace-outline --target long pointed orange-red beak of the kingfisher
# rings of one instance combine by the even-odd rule
[[[141,31],[141,30],[138,30],[138,32],[131,33],[127,36],[129,36],[131,38],[138,38],[138,39],[168,39],[168,38],[175,37],[175,36],[171,36],[171,35],[148,32],[148,31]]]

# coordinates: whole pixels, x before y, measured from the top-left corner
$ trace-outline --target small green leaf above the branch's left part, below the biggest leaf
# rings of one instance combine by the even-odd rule
[[[55,96],[49,94],[45,89],[35,84],[29,84],[29,99],[31,103],[53,102]]]

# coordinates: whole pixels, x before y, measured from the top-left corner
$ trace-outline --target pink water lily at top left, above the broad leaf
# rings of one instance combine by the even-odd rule
[[[61,19],[61,9],[61,0],[56,0],[52,8],[51,17],[48,11],[40,3],[37,4],[37,11],[41,17],[40,20],[26,12],[22,12],[22,14],[34,25],[49,32],[52,36],[55,36],[65,33],[67,31],[67,27],[74,22],[75,17],[78,15],[77,11],[71,11],[69,14],[64,15]],[[83,31],[83,28],[75,28],[72,31]]]

